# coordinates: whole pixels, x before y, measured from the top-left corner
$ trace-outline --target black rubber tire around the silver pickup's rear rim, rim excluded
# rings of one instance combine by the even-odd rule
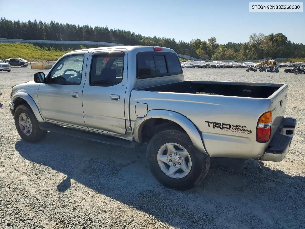
[[[179,144],[188,152],[192,166],[186,176],[182,178],[172,178],[165,174],[160,168],[157,160],[158,151],[167,143]],[[163,186],[175,190],[188,190],[200,184],[210,168],[210,157],[200,152],[192,144],[188,135],[179,129],[163,129],[156,133],[149,142],[146,159],[149,169],[156,180]],[[170,167],[170,165],[168,165],[168,167]]]

